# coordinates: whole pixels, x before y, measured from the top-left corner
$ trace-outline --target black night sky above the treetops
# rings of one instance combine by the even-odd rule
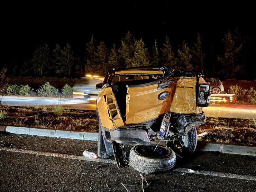
[[[46,2],[7,3],[1,6],[3,65],[6,62],[22,65],[31,58],[35,48],[45,43],[50,50],[67,43],[75,56],[83,57],[91,35],[97,44],[101,40],[111,50],[113,43],[120,47],[121,39],[130,31],[149,49],[157,40],[163,47],[165,37],[174,48],[183,40],[193,46],[199,33],[205,42],[219,42],[229,30],[245,33],[255,31],[255,10],[252,3],[222,4],[222,1],[200,3],[153,3],[139,1],[119,3]],[[195,1],[197,2],[197,1]],[[157,4],[156,4],[157,3]],[[239,2],[240,3],[240,2]],[[254,33],[255,35],[255,33]]]

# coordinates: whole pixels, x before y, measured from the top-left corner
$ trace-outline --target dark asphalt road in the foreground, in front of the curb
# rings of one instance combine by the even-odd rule
[[[133,145],[125,147],[129,154]],[[119,169],[113,158],[88,161],[84,150],[97,153],[97,141],[0,132],[0,191],[141,192],[140,174],[150,183],[145,192],[256,191],[256,156],[196,151],[177,157],[171,171],[143,174]]]

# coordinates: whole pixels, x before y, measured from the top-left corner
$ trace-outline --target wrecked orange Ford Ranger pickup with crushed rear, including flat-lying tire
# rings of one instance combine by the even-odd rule
[[[96,88],[101,90],[96,101],[100,158],[114,156],[119,168],[131,165],[150,174],[174,167],[172,149],[194,152],[196,126],[205,123],[202,108],[211,95],[200,73],[165,66],[114,69]],[[136,144],[129,161],[124,144]]]

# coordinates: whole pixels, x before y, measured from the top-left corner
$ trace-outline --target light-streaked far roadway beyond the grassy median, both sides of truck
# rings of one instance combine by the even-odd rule
[[[96,110],[94,102],[88,102],[81,99],[60,99],[60,98],[40,98],[40,97],[13,97],[4,96],[2,98],[3,105],[12,106],[35,106],[35,105],[56,105],[64,104],[70,109]],[[256,119],[256,106],[247,105],[220,105],[210,104],[204,107],[203,111],[207,117],[223,117],[223,118],[241,118]]]

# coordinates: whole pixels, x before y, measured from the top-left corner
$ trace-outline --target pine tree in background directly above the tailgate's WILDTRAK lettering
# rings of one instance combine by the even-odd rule
[[[183,43],[182,43],[182,51],[180,49],[178,50],[178,55],[181,58],[180,70],[192,71],[193,70],[193,65],[191,64],[192,56],[190,55],[190,49],[185,43],[185,40],[183,40]]]

